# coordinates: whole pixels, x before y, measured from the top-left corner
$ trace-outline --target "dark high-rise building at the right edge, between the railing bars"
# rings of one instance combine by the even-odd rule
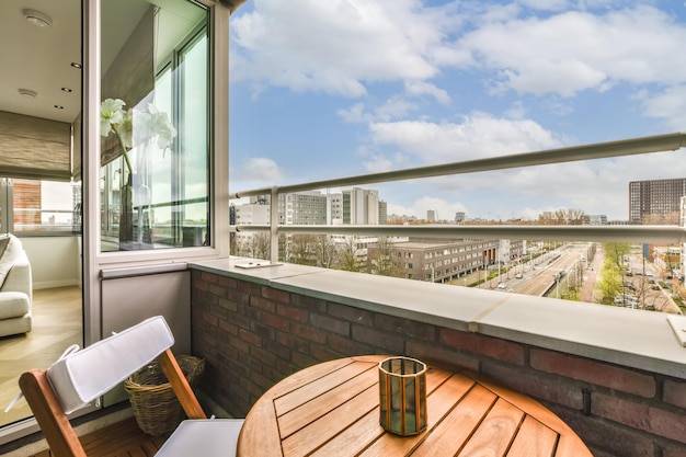
[[[686,178],[631,181],[629,220],[641,222],[648,216],[678,214],[683,196],[686,196]]]

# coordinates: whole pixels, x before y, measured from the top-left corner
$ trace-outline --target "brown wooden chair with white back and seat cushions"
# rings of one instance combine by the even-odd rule
[[[161,316],[70,354],[48,369],[32,369],[19,385],[57,457],[88,457],[68,414],[101,397],[158,358],[188,420],[156,457],[236,455],[242,419],[207,419],[170,347],[173,335]],[[112,437],[116,439],[116,437]]]

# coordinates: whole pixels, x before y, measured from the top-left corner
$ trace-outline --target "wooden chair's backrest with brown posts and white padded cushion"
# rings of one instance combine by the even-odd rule
[[[206,419],[170,347],[174,343],[161,316],[94,343],[19,379],[26,402],[54,455],[85,457],[67,414],[90,403],[158,358],[188,419]]]

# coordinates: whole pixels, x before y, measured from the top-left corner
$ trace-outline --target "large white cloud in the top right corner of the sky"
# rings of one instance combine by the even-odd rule
[[[496,88],[569,96],[621,81],[674,83],[686,75],[686,28],[651,7],[499,19],[458,41],[475,65],[495,71]]]

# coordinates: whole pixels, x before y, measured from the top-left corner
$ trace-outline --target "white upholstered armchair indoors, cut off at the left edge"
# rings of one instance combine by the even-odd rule
[[[19,242],[18,239],[14,240],[12,242]],[[5,266],[9,271],[0,287],[0,336],[26,333],[32,328],[31,263],[21,242],[13,249],[12,263]]]

